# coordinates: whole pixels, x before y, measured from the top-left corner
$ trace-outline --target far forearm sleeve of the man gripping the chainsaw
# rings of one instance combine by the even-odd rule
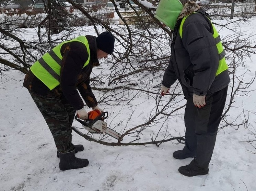
[[[92,93],[90,78],[78,86],[78,91],[88,107],[93,108],[98,104],[94,94]]]

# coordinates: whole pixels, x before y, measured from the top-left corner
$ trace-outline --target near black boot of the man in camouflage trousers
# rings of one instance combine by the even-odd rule
[[[61,170],[83,168],[85,166],[88,166],[89,164],[89,161],[87,159],[76,158],[75,150],[66,153],[58,153],[60,158],[59,168]]]

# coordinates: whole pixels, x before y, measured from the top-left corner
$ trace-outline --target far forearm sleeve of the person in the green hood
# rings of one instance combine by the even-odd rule
[[[174,84],[176,80],[177,80],[177,77],[173,68],[173,62],[172,62],[172,56],[171,56],[169,65],[164,72],[162,84],[165,87],[171,87],[171,85]]]

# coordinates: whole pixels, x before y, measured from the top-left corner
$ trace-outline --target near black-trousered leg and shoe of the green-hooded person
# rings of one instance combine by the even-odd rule
[[[208,173],[215,146],[218,126],[225,106],[228,87],[206,96],[206,105],[197,108],[195,118],[195,133],[197,137],[197,153],[189,165],[179,168],[186,176],[196,176]]]

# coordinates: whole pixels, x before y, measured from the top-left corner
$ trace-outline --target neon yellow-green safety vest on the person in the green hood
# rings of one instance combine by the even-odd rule
[[[194,13],[197,13],[197,12],[194,12]],[[181,38],[182,38],[183,24],[184,24],[184,22],[185,22],[185,20],[188,16],[189,15],[182,18],[181,26],[179,27],[179,36]],[[208,19],[210,20],[210,18],[208,18]],[[210,22],[211,22],[211,20],[210,20]],[[220,35],[219,35],[218,31],[216,30],[216,28],[213,26],[212,22],[211,22],[211,25],[212,25],[212,28],[213,28],[213,35],[212,36],[215,39],[215,43],[216,43],[218,53],[219,53],[219,67],[218,67],[216,75],[215,75],[215,76],[218,76],[221,72],[228,69],[228,65],[226,64],[225,51],[223,49],[223,46],[222,46],[222,43],[221,43],[221,40],[220,40]]]

